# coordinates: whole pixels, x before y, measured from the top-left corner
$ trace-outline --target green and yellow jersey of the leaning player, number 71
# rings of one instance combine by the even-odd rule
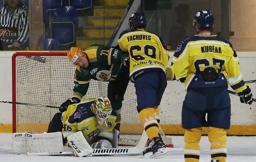
[[[119,49],[93,44],[84,51],[88,55],[89,67],[77,66],[74,76],[74,93],[72,97],[80,100],[87,93],[91,79],[97,81],[115,81],[121,66],[129,53]]]

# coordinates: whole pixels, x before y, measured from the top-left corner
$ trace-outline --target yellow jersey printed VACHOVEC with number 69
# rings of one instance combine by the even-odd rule
[[[117,42],[122,51],[130,54],[132,82],[146,71],[165,72],[169,53],[160,36],[142,29],[131,29],[123,31]]]

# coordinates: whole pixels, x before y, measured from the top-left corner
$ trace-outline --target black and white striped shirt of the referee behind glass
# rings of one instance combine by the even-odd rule
[[[13,35],[14,37],[12,37]],[[17,35],[16,38],[15,35]],[[20,44],[24,44],[28,40],[27,6],[19,3],[12,13],[9,13],[6,4],[0,8],[0,38],[7,43],[17,41]]]

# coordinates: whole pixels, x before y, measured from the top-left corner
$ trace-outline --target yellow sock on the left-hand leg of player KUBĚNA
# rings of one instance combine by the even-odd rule
[[[185,162],[199,162],[202,128],[187,129],[184,135]]]

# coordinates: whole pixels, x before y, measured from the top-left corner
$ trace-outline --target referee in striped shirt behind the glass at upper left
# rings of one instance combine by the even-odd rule
[[[0,8],[0,39],[4,51],[28,47],[28,7],[20,0],[5,0]]]

